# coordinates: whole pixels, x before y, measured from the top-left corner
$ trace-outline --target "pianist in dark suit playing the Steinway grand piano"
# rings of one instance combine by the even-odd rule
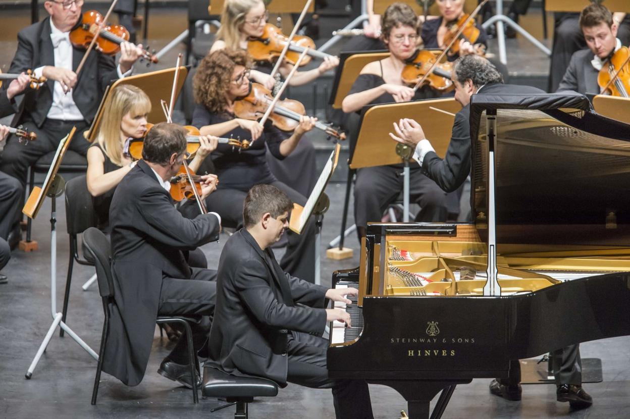
[[[271,245],[289,227],[293,204],[271,185],[256,185],[243,204],[244,228],[227,241],[219,260],[217,302],[205,365],[235,376],[265,377],[312,388],[332,388],[338,419],[371,419],[367,382],[328,378],[327,321],[350,325],[324,297],[350,303],[357,289],[326,289],[285,273]]]

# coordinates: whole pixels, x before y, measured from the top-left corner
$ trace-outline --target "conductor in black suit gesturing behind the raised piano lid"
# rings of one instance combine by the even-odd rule
[[[487,95],[537,95],[541,89],[530,86],[503,84],[503,77],[490,61],[479,55],[465,55],[455,61],[452,71],[455,100],[461,103],[461,111],[455,115],[449,147],[444,159],[435,154],[431,142],[425,137],[421,125],[412,119],[394,123],[396,134],[392,139],[415,149],[413,158],[429,178],[447,192],[457,190],[471,170],[470,101],[476,94]],[[579,345],[556,350],[552,353],[556,399],[568,401],[572,408],[587,408],[592,399],[581,387],[581,361]],[[508,400],[521,399],[520,363],[510,363],[508,379],[493,380],[490,392]]]

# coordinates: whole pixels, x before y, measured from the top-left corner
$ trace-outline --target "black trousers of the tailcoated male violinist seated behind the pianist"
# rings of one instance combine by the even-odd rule
[[[185,316],[195,319],[190,322],[193,347],[197,353],[208,340],[217,294],[217,271],[192,268],[190,279],[163,278],[159,316]],[[181,336],[168,357],[177,364],[188,364],[186,337]]]

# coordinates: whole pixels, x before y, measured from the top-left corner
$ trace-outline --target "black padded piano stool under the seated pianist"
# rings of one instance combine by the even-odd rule
[[[248,404],[255,397],[275,397],[278,395],[278,384],[266,378],[237,377],[204,365],[202,396],[222,398],[227,405],[210,410],[215,412],[236,405],[234,419],[248,419]]]

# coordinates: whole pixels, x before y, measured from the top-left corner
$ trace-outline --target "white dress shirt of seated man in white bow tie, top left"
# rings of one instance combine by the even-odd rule
[[[55,67],[60,67],[68,70],[72,70],[72,44],[70,43],[70,32],[61,32],[50,20],[50,40],[52,41],[52,47],[54,48],[55,55]],[[125,72],[120,72],[120,65],[116,67],[118,77],[121,79],[125,76],[129,76],[133,69]],[[37,67],[34,71],[35,77],[42,77],[43,66]],[[84,117],[79,111],[74,98],[72,98],[72,92],[67,95],[64,93],[64,89],[61,87],[61,83],[54,82],[52,105],[47,118],[64,120],[64,121],[79,121]]]

